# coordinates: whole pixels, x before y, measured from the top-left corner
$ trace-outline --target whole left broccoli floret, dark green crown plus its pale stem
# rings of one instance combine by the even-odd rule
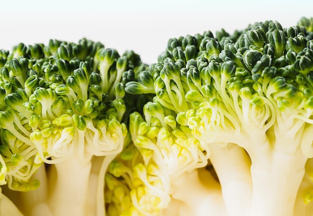
[[[136,54],[86,39],[3,53],[2,185],[26,192],[13,199],[25,215],[103,215],[103,176],[134,106],[122,76],[134,73]]]

